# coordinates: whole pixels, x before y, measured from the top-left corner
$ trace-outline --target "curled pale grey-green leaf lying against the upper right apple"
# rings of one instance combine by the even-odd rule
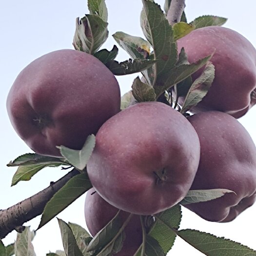
[[[215,67],[212,62],[208,62],[204,71],[191,85],[188,94],[183,102],[180,113],[183,114],[196,106],[204,98],[210,89],[215,77]]]

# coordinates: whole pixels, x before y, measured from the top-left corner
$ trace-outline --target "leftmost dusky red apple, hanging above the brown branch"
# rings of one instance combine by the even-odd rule
[[[120,89],[97,58],[63,49],[43,55],[20,72],[7,111],[32,150],[60,157],[56,146],[81,149],[88,135],[120,111]]]

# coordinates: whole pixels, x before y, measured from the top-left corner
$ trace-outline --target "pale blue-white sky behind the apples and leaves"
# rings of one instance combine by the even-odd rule
[[[164,0],[156,0],[162,7]],[[140,0],[106,0],[109,12],[109,38],[103,48],[112,49],[116,44],[111,35],[117,31],[143,37],[139,25],[141,11]],[[217,15],[228,18],[224,25],[236,30],[254,46],[255,34],[255,0],[187,0],[186,14],[188,21],[201,15]],[[49,168],[40,171],[31,181],[20,182],[10,187],[15,167],[6,167],[6,164],[16,157],[32,152],[16,135],[12,128],[5,107],[8,91],[19,72],[32,60],[54,50],[70,48],[75,31],[75,20],[83,17],[87,10],[86,0],[13,0],[0,3],[0,113],[1,113],[1,151],[0,151],[0,209],[8,208],[17,202],[34,195],[56,181],[67,171],[60,168]],[[129,56],[119,49],[118,60],[126,60]],[[121,93],[130,90],[133,79],[137,75],[118,77]],[[248,130],[256,142],[256,107],[239,121]],[[59,214],[64,221],[74,222],[85,227],[83,215],[85,195]],[[207,222],[189,210],[183,208],[181,228],[193,228],[212,233],[217,236],[235,240],[256,250],[256,204],[243,212],[230,223]],[[39,225],[40,217],[26,223],[31,229]],[[16,232],[9,234],[3,242],[5,245],[14,241]],[[34,239],[37,256],[63,250],[57,219],[51,220],[42,227]],[[203,255],[186,242],[177,239],[168,255]]]

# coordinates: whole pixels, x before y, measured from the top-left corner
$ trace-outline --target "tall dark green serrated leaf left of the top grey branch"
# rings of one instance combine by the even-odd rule
[[[160,6],[149,0],[142,0],[145,18],[142,29],[145,37],[153,46],[154,59],[157,59],[155,68],[155,81],[153,87],[158,85],[162,75],[169,73],[177,62],[177,44],[174,41],[174,31],[169,24]],[[147,33],[145,33],[147,31]]]

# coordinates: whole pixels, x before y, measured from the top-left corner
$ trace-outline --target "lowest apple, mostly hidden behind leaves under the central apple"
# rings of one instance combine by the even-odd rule
[[[84,217],[87,228],[92,236],[95,236],[118,213],[118,208],[110,205],[91,188],[85,197]],[[129,213],[121,211],[122,223]],[[115,256],[133,256],[142,243],[142,228],[139,215],[131,217],[124,228],[125,240],[120,252]]]

